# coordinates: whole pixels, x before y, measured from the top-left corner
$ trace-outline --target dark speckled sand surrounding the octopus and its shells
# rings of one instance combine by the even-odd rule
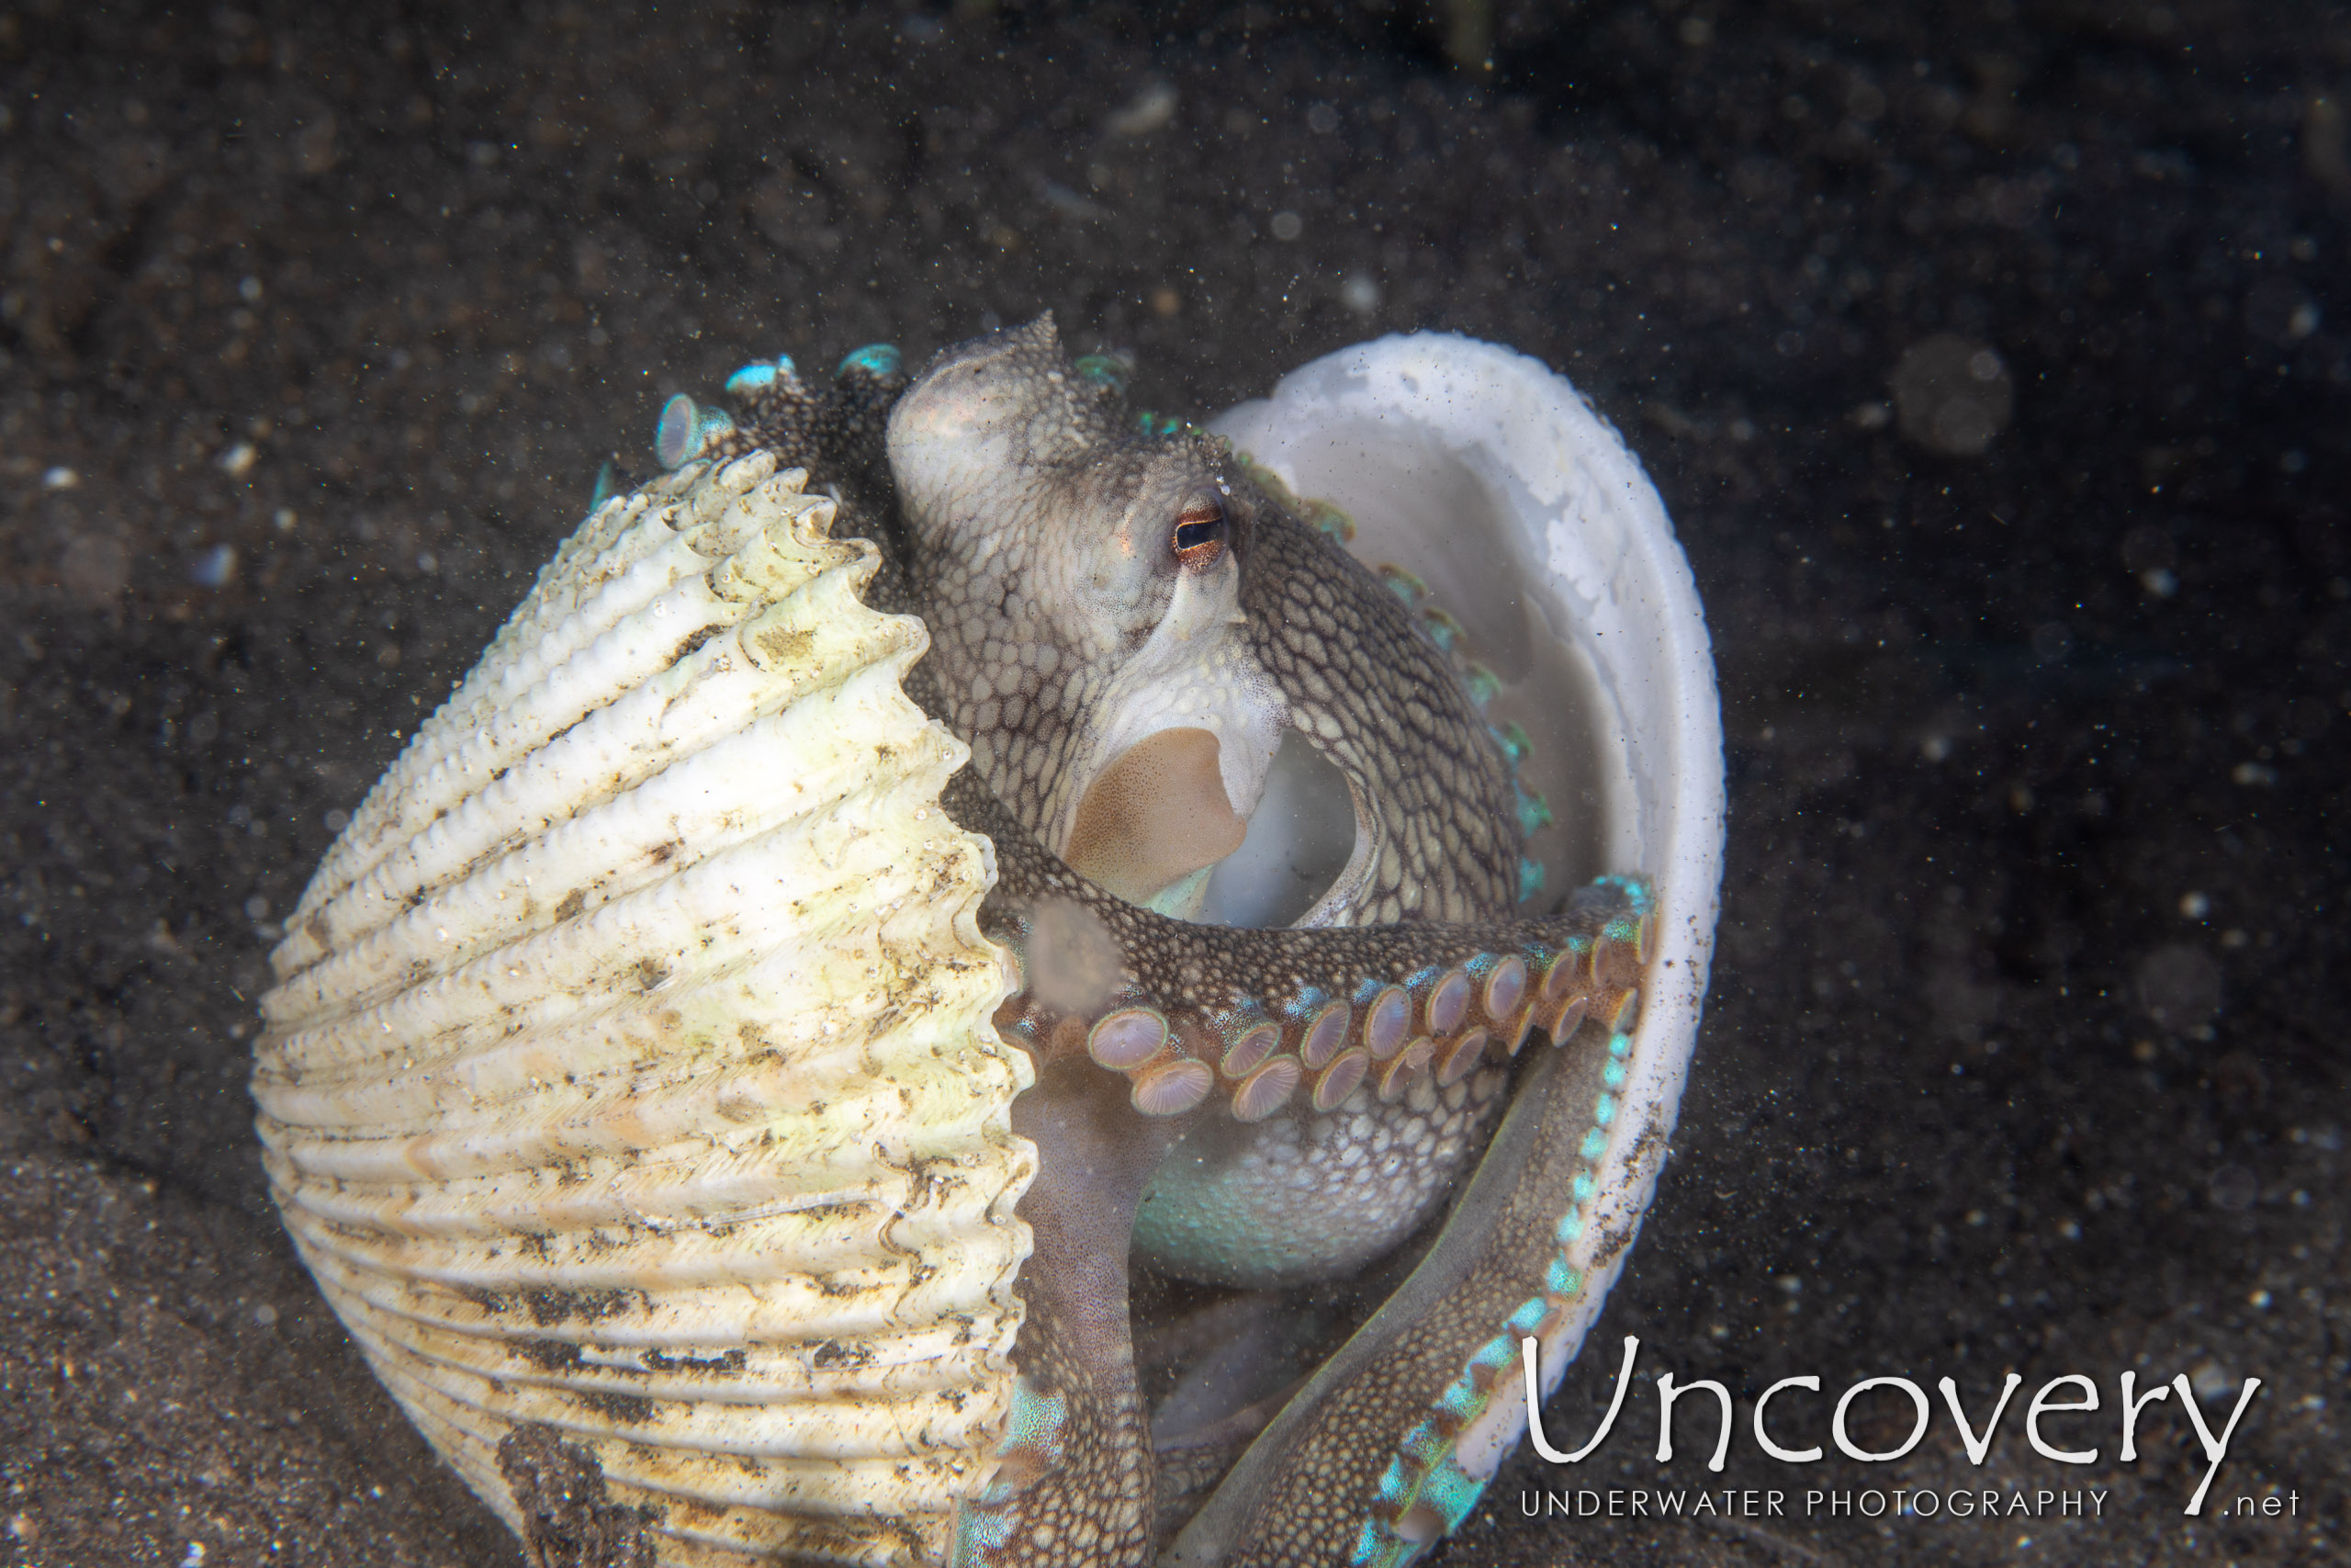
[[[665,393],[1046,306],[1187,414],[1378,331],[1512,343],[1697,569],[1714,1004],[1554,1422],[1639,1333],[1740,1394],[1730,1469],[1704,1415],[1650,1460],[1641,1385],[1439,1561],[2339,1561],[2351,19],[1502,5],[1465,73],[1418,14],[0,12],[0,1561],[520,1561],[277,1229],[273,919]],[[1980,456],[1890,418],[1933,334],[2012,381]],[[2008,1368],[1982,1472],[1940,1401],[1890,1465],[1747,1429],[1784,1375],[1980,1418]],[[2205,1519],[2177,1403],[2116,1462],[2123,1368],[2215,1420],[2262,1378]],[[2022,1434],[2071,1371],[2081,1467]],[[1789,1512],[1521,1519],[1561,1479]],[[1855,1486],[2106,1497],[1803,1516]]]

